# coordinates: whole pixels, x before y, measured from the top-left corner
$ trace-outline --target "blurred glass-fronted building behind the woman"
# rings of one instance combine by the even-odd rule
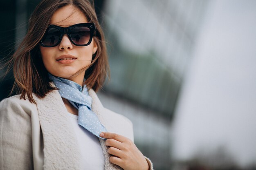
[[[12,54],[22,40],[38,2],[1,3],[1,58]],[[106,108],[132,121],[135,144],[153,161],[156,170],[171,167],[171,122],[207,3],[95,0],[111,70],[111,80],[99,97]],[[7,97],[10,77],[1,81],[0,100]]]

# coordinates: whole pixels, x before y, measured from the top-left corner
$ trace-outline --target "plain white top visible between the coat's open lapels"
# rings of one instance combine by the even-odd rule
[[[78,116],[67,114],[78,139],[82,170],[104,170],[104,156],[99,138],[78,124]]]

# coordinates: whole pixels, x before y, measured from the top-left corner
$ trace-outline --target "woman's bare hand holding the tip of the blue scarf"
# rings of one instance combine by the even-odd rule
[[[103,136],[101,135],[103,134]],[[148,162],[135,144],[127,137],[116,133],[102,132],[101,137],[106,138],[108,153],[111,154],[109,161],[120,166],[124,170],[148,170]]]

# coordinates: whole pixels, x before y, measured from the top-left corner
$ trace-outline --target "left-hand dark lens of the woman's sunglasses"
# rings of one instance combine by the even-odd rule
[[[42,42],[45,46],[55,46],[61,37],[61,32],[56,28],[49,28],[45,33]]]

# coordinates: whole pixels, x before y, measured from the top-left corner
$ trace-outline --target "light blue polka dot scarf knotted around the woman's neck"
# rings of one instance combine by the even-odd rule
[[[99,134],[101,132],[107,132],[107,130],[100,123],[97,115],[92,112],[92,97],[90,97],[86,85],[82,88],[82,86],[71,80],[55,77],[51,74],[49,74],[49,79],[52,80],[58,88],[61,97],[67,99],[78,109],[78,124],[83,126],[93,135],[102,138]]]

